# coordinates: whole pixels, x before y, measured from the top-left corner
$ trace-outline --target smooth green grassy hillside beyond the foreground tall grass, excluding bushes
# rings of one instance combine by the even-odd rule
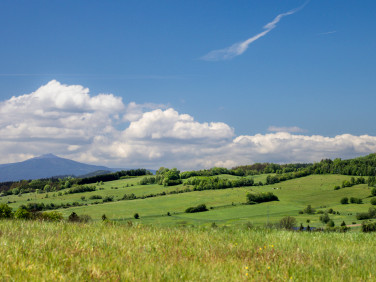
[[[221,176],[228,177],[228,176]],[[231,176],[234,178],[234,176]],[[256,176],[255,181],[264,180],[265,175]],[[137,185],[140,178],[117,180],[107,182],[103,190],[95,192],[78,193],[71,195],[56,196],[57,193],[49,193],[49,198],[45,194],[24,194],[21,197],[7,196],[0,198],[0,202],[16,201],[11,204],[17,208],[21,204],[38,201],[44,203],[60,202],[80,202],[89,204],[88,206],[72,207],[61,210],[65,216],[72,211],[78,214],[89,214],[93,219],[100,219],[102,214],[106,214],[110,219],[130,220],[134,213],[139,213],[143,223],[171,225],[171,224],[239,224],[252,222],[256,225],[264,224],[267,221],[276,222],[286,215],[294,216],[299,223],[306,225],[309,219],[310,226],[322,226],[319,222],[319,215],[298,215],[308,204],[316,209],[333,208],[340,211],[341,215],[331,216],[336,224],[343,220],[350,224],[355,219],[356,212],[367,211],[370,207],[369,200],[366,198],[370,195],[367,185],[357,185],[351,188],[344,188],[337,191],[333,190],[335,185],[340,185],[343,180],[350,179],[349,176],[343,175],[311,175],[304,178],[293,179],[270,186],[233,188],[225,190],[197,191],[184,194],[168,195],[148,199],[138,199],[132,201],[115,201],[99,205],[90,205],[94,201],[82,201],[81,196],[88,199],[91,195],[102,195],[115,197],[115,200],[123,197],[124,194],[134,193],[137,196],[150,193],[160,193],[162,191],[171,191],[175,189],[184,189],[183,185],[175,187],[163,187],[159,185]],[[126,187],[126,186],[129,187]],[[134,185],[134,186],[131,186]],[[117,189],[114,189],[117,187]],[[280,189],[275,189],[280,188]],[[242,205],[246,201],[246,194],[250,191],[271,191],[275,193],[280,201],[263,203],[258,205]],[[55,197],[53,197],[55,194]],[[364,199],[362,205],[341,205],[339,203],[342,197],[360,197]],[[36,197],[36,200],[34,199]],[[205,203],[208,207],[213,207],[209,212],[185,214],[187,207]],[[232,205],[234,204],[234,205]],[[170,212],[172,216],[167,216]]]

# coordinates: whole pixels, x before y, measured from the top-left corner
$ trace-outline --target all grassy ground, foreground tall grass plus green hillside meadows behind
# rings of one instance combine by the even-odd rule
[[[221,175],[235,179],[236,176]],[[255,182],[267,175],[255,176]],[[13,210],[28,203],[81,206],[58,209],[65,218],[75,212],[89,223],[0,220],[0,280],[8,281],[365,281],[376,275],[374,234],[350,232],[292,232],[265,228],[293,216],[298,226],[325,227],[320,214],[333,209],[338,226],[359,224],[371,189],[367,184],[334,190],[344,175],[310,175],[273,185],[193,190],[183,184],[139,185],[142,177],[96,184],[96,191],[67,194],[26,193],[0,197]],[[174,194],[168,194],[175,191]],[[178,193],[178,192],[183,193]],[[124,194],[144,199],[123,200]],[[279,201],[246,203],[250,192],[272,192]],[[90,199],[113,197],[111,202]],[[363,204],[340,204],[357,197]],[[206,204],[208,211],[185,213]],[[134,214],[140,215],[139,219]],[[102,221],[105,214],[109,221]]]

